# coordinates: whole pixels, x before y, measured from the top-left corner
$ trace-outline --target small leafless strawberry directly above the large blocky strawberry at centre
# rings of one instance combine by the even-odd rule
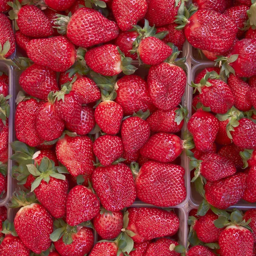
[[[93,152],[103,166],[109,166],[122,156],[122,140],[118,136],[103,135],[94,141]]]

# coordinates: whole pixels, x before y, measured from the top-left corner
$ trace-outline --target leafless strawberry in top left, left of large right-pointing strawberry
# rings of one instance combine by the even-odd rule
[[[53,34],[50,20],[38,7],[27,5],[18,12],[17,25],[20,32],[33,38],[44,38]]]

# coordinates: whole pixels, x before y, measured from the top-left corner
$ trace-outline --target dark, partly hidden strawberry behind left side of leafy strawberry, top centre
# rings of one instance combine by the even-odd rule
[[[133,60],[138,58],[137,54],[131,54],[133,43],[139,34],[136,31],[120,32],[115,40],[115,45],[124,53],[125,57],[130,57]]]

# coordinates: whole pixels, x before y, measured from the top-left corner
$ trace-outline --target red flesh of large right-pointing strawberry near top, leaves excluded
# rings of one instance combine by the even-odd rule
[[[114,21],[90,8],[78,9],[67,25],[67,37],[73,44],[81,47],[106,43],[115,39],[118,34],[119,29]]]

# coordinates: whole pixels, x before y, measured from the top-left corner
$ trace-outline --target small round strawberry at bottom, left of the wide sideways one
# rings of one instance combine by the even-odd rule
[[[116,238],[121,233],[123,224],[123,213],[121,211],[108,212],[102,208],[93,218],[93,226],[102,239]]]

